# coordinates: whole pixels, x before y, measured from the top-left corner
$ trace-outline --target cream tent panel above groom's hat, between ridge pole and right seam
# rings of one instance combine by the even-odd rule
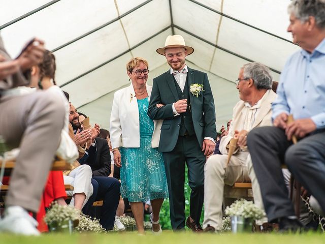
[[[174,24],[216,43],[219,14],[186,0],[173,0],[172,10]]]

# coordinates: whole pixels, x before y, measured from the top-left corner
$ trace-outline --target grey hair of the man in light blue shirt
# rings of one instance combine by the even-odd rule
[[[293,0],[288,6],[288,13],[303,23],[309,16],[314,16],[316,25],[325,28],[325,0]]]

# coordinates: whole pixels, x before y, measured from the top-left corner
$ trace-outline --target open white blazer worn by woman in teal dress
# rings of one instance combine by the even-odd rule
[[[146,85],[150,100],[151,85]],[[153,120],[154,131],[151,147],[158,147],[160,128],[163,120]],[[139,109],[133,85],[118,90],[114,94],[110,121],[110,136],[112,148],[140,147]]]

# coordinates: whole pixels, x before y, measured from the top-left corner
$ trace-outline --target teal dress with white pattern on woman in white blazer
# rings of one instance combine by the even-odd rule
[[[168,198],[163,154],[151,147],[154,124],[148,98],[138,100],[140,147],[121,147],[121,195],[129,202]]]

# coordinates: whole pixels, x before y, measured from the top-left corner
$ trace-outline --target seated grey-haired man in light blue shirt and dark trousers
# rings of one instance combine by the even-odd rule
[[[252,130],[247,141],[268,219],[278,221],[282,231],[295,231],[302,225],[288,199],[281,164],[325,210],[325,2],[294,0],[288,12],[287,31],[302,50],[282,70],[273,127]],[[289,114],[295,121],[287,125]]]

